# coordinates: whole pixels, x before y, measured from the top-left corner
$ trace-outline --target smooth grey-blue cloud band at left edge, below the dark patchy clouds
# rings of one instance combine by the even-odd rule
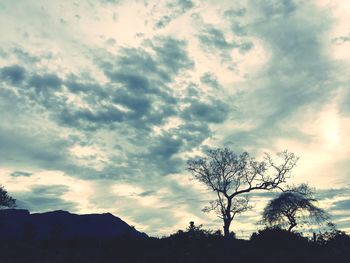
[[[74,163],[70,154],[73,139],[60,138],[57,134],[44,133],[41,129],[25,131],[0,125],[0,163],[17,169],[26,167],[63,171],[77,177],[93,178],[96,175],[95,169]]]

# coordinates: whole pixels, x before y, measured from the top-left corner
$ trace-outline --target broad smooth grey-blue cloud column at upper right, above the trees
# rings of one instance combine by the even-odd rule
[[[320,109],[331,98],[333,84],[328,80],[336,68],[322,42],[329,29],[325,21],[330,18],[311,4],[297,5],[292,1],[256,2],[254,8],[255,19],[260,21],[249,28],[249,33],[263,41],[270,57],[249,78],[251,88],[237,93],[234,102],[236,121],[246,122],[250,116],[254,127],[233,132],[226,141],[268,147],[277,137],[303,140],[307,135],[290,130],[287,120],[311,107]],[[310,12],[324,19],[308,19]]]

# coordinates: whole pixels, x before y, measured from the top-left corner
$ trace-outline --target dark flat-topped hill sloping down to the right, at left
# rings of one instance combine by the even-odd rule
[[[76,215],[66,211],[30,214],[27,210],[0,210],[1,240],[144,238],[123,220],[106,214]]]

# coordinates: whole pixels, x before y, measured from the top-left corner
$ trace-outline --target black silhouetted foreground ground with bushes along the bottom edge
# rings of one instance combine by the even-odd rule
[[[337,232],[308,240],[263,230],[250,240],[203,232],[119,240],[1,241],[0,262],[350,262],[350,237]]]

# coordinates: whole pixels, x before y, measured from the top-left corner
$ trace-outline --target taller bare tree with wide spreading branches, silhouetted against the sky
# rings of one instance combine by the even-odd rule
[[[248,210],[247,193],[257,190],[281,189],[298,158],[288,151],[277,154],[277,162],[265,154],[256,161],[244,152],[235,154],[228,148],[210,149],[205,157],[187,161],[194,178],[216,193],[217,199],[203,211],[215,211],[224,222],[224,235],[230,234],[233,218]]]

